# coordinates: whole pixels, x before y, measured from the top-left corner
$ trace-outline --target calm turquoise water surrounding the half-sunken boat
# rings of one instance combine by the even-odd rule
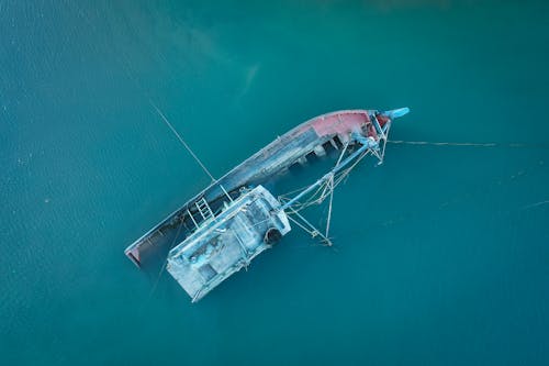
[[[549,362],[544,1],[0,2],[0,364]],[[336,193],[198,304],[124,247],[295,124],[407,106]],[[320,217],[312,218],[322,222]]]

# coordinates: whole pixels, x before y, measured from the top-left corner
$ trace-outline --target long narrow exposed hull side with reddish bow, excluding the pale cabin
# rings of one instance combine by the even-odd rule
[[[323,114],[298,125],[212,182],[135,241],[124,253],[141,266],[147,254],[170,249],[173,242],[182,242],[200,226],[206,218],[201,214],[198,202],[205,201],[214,211],[220,210],[223,202],[228,200],[227,195],[237,198],[240,188],[268,182],[310,154],[324,155],[325,148],[330,145],[338,148],[349,142],[352,132],[379,141],[376,123],[381,127],[389,118],[378,114],[377,121],[372,122],[374,113],[371,110],[345,110]]]

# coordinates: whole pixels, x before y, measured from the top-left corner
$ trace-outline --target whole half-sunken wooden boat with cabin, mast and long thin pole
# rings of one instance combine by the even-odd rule
[[[323,114],[277,137],[219,179],[205,170],[211,185],[131,244],[125,255],[142,266],[155,253],[164,253],[167,271],[195,302],[272,247],[291,224],[332,245],[334,188],[365,157],[383,162],[391,122],[408,111]],[[293,166],[318,157],[334,163],[307,186],[290,195],[266,188]],[[318,230],[301,212],[325,201],[329,202],[326,228]]]

